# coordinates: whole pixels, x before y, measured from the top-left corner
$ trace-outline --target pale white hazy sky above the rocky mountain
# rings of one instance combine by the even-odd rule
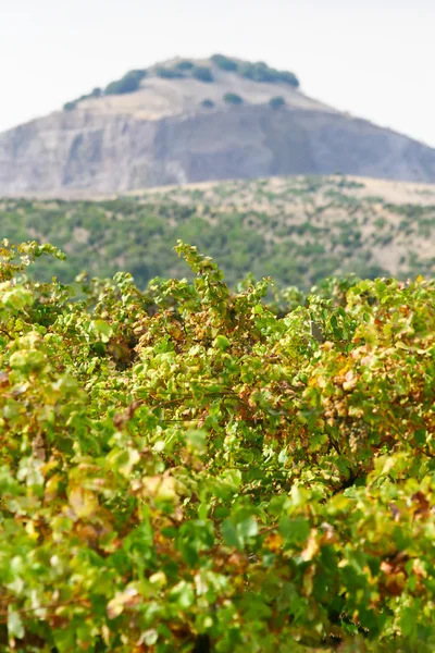
[[[214,52],[435,147],[435,0],[0,0],[0,131],[134,67]]]

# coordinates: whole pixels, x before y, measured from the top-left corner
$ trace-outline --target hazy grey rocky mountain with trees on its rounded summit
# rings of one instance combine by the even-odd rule
[[[129,71],[0,134],[3,196],[335,172],[435,182],[435,150],[307,97],[290,72],[224,56]]]

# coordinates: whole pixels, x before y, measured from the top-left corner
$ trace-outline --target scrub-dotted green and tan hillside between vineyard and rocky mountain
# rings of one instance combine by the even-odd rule
[[[67,254],[41,259],[39,279],[133,273],[183,278],[177,238],[221,264],[234,286],[249,272],[307,291],[327,275],[435,272],[435,186],[344,177],[273,177],[149,189],[124,197],[0,201],[2,237]],[[32,274],[32,270],[30,270]]]

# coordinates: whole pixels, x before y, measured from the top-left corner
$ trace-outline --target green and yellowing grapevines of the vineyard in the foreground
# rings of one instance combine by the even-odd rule
[[[0,651],[434,651],[435,281],[175,249],[144,289],[0,248]]]

